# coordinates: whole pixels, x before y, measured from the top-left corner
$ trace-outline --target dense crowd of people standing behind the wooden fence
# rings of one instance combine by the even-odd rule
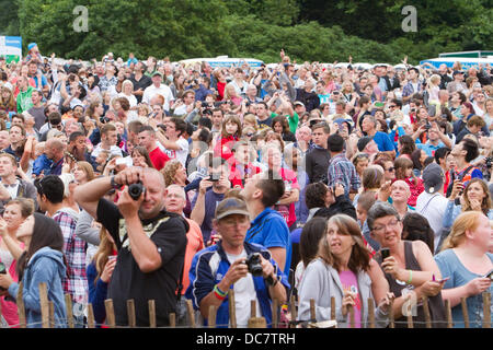
[[[1,326],[481,327],[493,275],[493,69],[279,62],[215,68],[112,52],[0,57]],[[234,291],[231,298],[230,291]],[[331,298],[335,299],[335,310]],[[230,303],[233,305],[230,305]],[[491,303],[490,303],[491,304]],[[230,319],[230,308],[236,319]],[[279,306],[280,307],[280,306]],[[349,312],[349,311],[353,312]],[[493,312],[493,310],[492,310]],[[491,313],[493,314],[493,313]]]

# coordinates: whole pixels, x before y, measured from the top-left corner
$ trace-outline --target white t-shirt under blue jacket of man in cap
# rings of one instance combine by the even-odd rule
[[[239,258],[246,258],[246,252],[240,255],[231,255],[226,253],[230,264],[233,264]],[[251,301],[255,300],[256,317],[262,316],[259,299],[256,298],[255,285],[253,284],[252,275],[239,279],[233,287],[234,290],[234,307],[237,313],[237,326],[239,328],[246,328],[251,316]]]

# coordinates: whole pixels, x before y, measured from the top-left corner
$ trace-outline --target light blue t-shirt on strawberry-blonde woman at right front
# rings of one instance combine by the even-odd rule
[[[493,261],[493,254],[486,253],[490,260]],[[452,289],[465,285],[480,275],[469,271],[462,262],[460,262],[454,249],[446,249],[435,256],[435,261],[442,272],[442,278],[449,277],[445,282],[444,289]],[[493,284],[490,284],[490,293],[493,293]],[[482,294],[469,296],[466,300],[469,314],[469,324],[471,328],[481,328],[483,320],[483,296]],[[461,304],[452,307],[454,327],[465,328]],[[493,304],[491,304],[491,322],[493,322]]]

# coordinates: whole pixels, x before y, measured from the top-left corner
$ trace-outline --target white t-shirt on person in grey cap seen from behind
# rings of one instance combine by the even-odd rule
[[[448,199],[439,194],[421,192],[416,199],[416,212],[428,219],[429,226],[435,233],[435,249],[440,241],[443,221],[445,210],[447,209]]]

